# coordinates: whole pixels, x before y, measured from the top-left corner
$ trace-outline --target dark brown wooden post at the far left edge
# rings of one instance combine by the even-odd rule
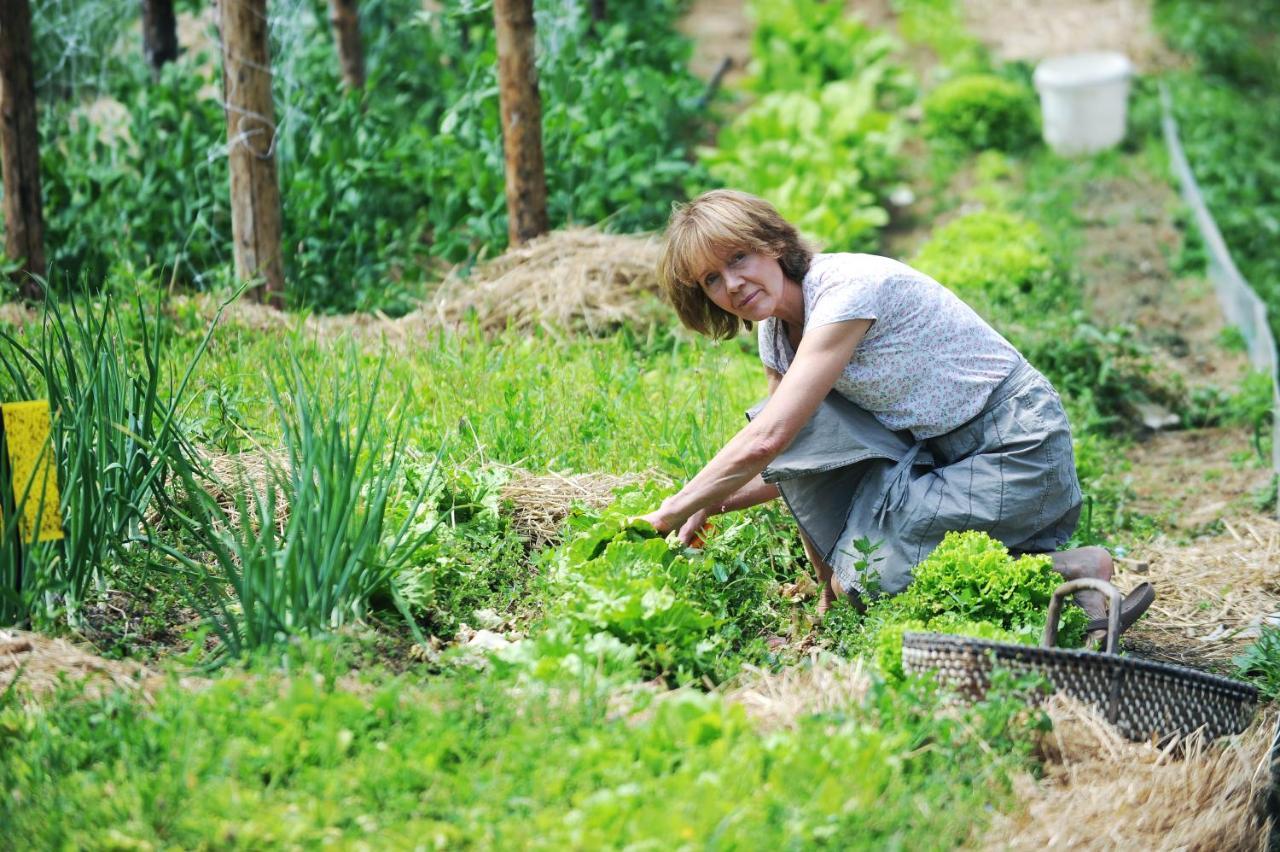
[[[31,5],[0,0],[0,174],[4,178],[4,251],[22,260],[18,287],[44,297],[45,214],[40,201],[40,130],[31,73]]]

